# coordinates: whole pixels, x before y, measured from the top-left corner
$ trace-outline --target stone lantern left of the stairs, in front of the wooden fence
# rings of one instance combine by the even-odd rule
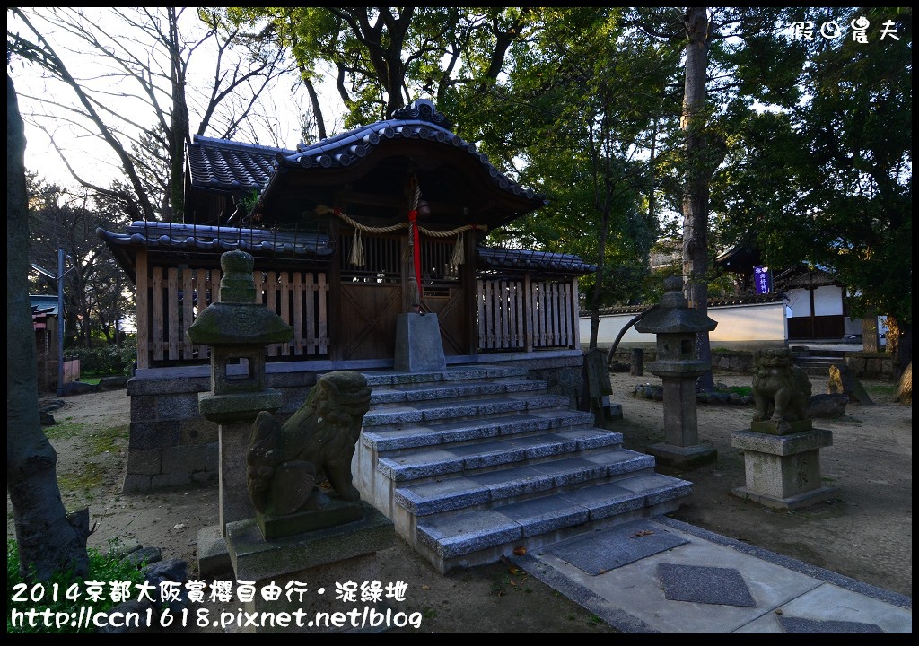
[[[261,411],[275,412],[281,391],[265,387],[265,349],[286,343],[293,328],[255,302],[252,255],[221,255],[221,298],[188,326],[192,343],[210,346],[210,392],[198,397],[199,412],[218,423],[220,442],[220,527],[255,516],[246,489],[246,451],[252,422]]]

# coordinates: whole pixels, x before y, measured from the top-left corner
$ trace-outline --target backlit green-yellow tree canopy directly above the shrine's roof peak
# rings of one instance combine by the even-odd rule
[[[387,119],[415,98],[448,114],[462,96],[493,83],[512,43],[537,9],[520,7],[233,7],[228,17],[259,25],[291,51],[301,79],[318,84],[331,70],[345,127]],[[322,107],[314,105],[321,119]],[[472,123],[481,122],[474,117]],[[475,141],[471,138],[471,141]]]

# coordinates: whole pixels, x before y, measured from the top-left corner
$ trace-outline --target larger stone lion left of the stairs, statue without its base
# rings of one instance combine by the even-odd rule
[[[359,372],[324,374],[300,410],[282,426],[262,411],[249,438],[249,496],[266,516],[319,509],[325,496],[317,484],[328,480],[342,500],[357,502],[352,483],[354,457],[370,389]]]

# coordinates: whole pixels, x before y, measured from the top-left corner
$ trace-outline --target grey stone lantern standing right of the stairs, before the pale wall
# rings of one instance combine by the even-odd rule
[[[696,380],[711,368],[698,358],[696,333],[715,329],[713,321],[690,309],[683,297],[683,280],[664,279],[664,297],[657,309],[635,323],[639,332],[657,334],[657,360],[648,370],[664,381],[664,443],[648,448],[658,462],[695,467],[718,457],[715,448],[698,443]]]

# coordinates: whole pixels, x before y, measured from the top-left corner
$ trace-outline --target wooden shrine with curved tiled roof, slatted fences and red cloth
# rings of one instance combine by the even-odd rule
[[[319,373],[393,368],[397,318],[416,308],[437,314],[448,365],[580,374],[577,279],[596,267],[482,244],[545,199],[450,128],[419,100],[294,150],[195,137],[183,223],[97,231],[137,286],[125,490],[216,470],[216,430],[189,422],[208,388],[209,350],[186,330],[219,299],[226,251],[253,256],[255,300],[293,328],[288,343],[266,349],[269,385],[288,389],[281,414]]]

